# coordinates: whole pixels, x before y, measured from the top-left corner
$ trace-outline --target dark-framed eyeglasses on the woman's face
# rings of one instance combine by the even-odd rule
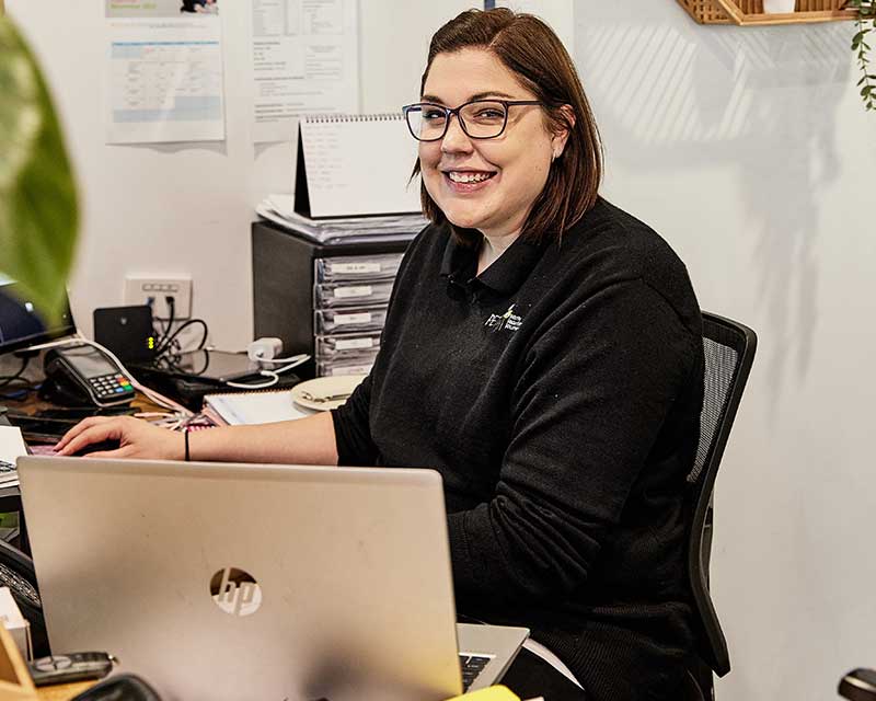
[[[418,102],[402,107],[407,128],[417,141],[438,141],[445,138],[450,117],[457,115],[459,126],[472,139],[495,139],[508,124],[508,108],[518,105],[540,105],[538,100],[474,100],[451,110],[431,102]]]

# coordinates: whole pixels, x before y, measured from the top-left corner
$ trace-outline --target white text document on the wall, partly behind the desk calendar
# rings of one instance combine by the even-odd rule
[[[359,106],[357,0],[252,0],[253,140],[292,141],[303,114]]]

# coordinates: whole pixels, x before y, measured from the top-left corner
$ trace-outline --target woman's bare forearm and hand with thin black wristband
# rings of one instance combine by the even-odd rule
[[[130,416],[95,416],[71,428],[56,446],[71,456],[94,443],[118,440],[116,450],[91,458],[185,459],[185,436]],[[188,434],[191,460],[337,464],[335,429],[328,412],[257,426],[227,426]]]

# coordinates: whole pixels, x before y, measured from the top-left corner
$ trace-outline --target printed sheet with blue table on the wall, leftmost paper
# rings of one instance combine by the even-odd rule
[[[226,138],[220,2],[104,0],[106,141]]]

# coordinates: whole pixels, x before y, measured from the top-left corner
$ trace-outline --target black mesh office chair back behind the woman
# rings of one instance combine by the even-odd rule
[[[714,671],[723,677],[730,670],[727,641],[721,630],[708,594],[708,565],[712,552],[712,490],[721,458],[730,435],[736,410],[754,359],[758,337],[736,321],[703,312],[705,391],[700,416],[700,443],[690,485],[691,533],[688,544],[688,575],[698,616],[696,659],[690,669],[689,697],[692,701],[714,699]]]

